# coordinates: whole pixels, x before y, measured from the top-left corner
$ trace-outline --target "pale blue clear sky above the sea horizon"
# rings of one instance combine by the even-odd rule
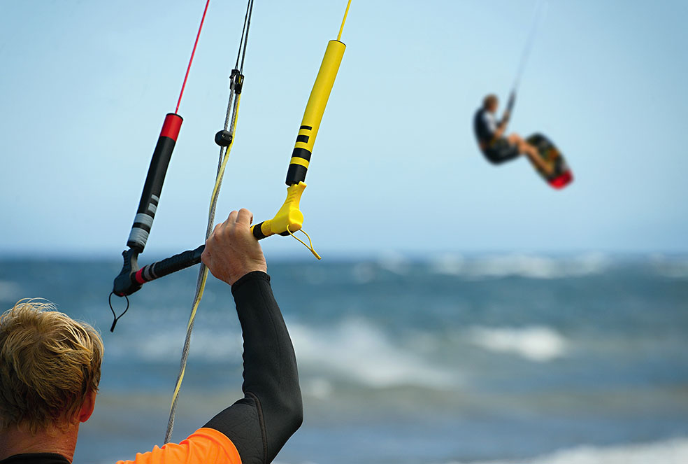
[[[203,0],[0,2],[0,254],[116,258]],[[550,1],[510,129],[543,132],[575,183],[487,164],[471,118],[506,99],[535,1],[354,0],[301,209],[325,257],[688,252],[688,3]],[[211,0],[148,254],[203,241],[243,1]],[[255,3],[218,218],[273,216],[345,1]],[[308,256],[292,239],[274,255]]]

